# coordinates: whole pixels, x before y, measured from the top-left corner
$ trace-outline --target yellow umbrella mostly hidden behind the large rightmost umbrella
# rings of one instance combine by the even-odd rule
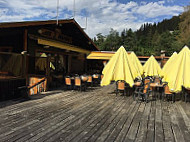
[[[173,65],[173,63],[175,62],[175,59],[177,58],[177,52],[174,52],[172,54],[172,56],[168,59],[168,61],[166,62],[166,64],[164,65],[164,67],[162,68],[161,71],[161,76],[165,76],[165,74],[167,74],[170,69],[171,66]]]

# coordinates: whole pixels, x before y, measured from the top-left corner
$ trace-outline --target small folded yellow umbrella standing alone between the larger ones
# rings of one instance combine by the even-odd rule
[[[152,55],[143,66],[145,76],[159,76],[161,68],[154,56]]]

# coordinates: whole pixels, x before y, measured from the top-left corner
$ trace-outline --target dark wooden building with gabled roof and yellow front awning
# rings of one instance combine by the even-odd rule
[[[7,73],[4,66],[8,66],[10,57],[5,56],[9,54],[12,58],[22,52],[19,61],[22,64],[14,65],[20,68],[20,74],[10,70],[9,73],[26,78],[27,85],[44,77],[50,84],[54,78],[65,74],[85,73],[86,56],[91,51],[98,51],[98,48],[74,19],[58,23],[56,20],[0,23],[0,76]]]

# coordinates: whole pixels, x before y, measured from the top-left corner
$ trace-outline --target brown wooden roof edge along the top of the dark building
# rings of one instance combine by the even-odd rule
[[[78,38],[81,40],[84,39],[87,41],[86,43],[89,43],[93,51],[99,50],[98,47],[94,44],[94,42],[91,40],[91,38],[84,32],[84,30],[80,27],[80,25],[74,20],[74,19],[63,19],[58,21],[59,25],[63,24],[66,25],[66,27],[75,27],[75,30],[77,30]],[[32,26],[43,26],[43,25],[55,25],[57,24],[57,20],[47,20],[47,21],[24,21],[24,22],[4,22],[0,23],[0,29],[6,29],[6,28],[19,28],[19,27],[32,27]],[[71,26],[72,25],[72,26]]]

